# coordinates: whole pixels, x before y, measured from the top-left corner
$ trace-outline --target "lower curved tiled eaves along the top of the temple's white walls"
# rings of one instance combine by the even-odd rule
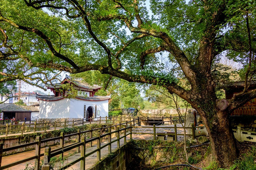
[[[36,98],[41,101],[58,101],[63,99],[64,97],[58,96],[55,97],[54,95],[38,95],[36,94]],[[85,96],[76,96],[77,99],[80,100],[85,100],[85,101],[105,101],[109,100],[111,97],[110,96],[90,96],[90,97],[85,97]]]

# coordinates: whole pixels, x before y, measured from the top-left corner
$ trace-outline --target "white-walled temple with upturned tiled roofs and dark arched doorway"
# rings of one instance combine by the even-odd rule
[[[59,92],[61,84],[73,84],[73,88],[78,90],[75,98],[65,98],[68,91]],[[87,83],[70,78],[66,78],[60,84],[47,85],[54,95],[38,95],[39,118],[90,118],[108,116],[108,100],[111,96],[94,95],[101,86],[90,86]]]

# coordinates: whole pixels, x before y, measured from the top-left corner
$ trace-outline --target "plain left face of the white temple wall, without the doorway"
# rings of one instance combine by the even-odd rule
[[[39,101],[39,118],[71,118],[70,99],[58,101]]]

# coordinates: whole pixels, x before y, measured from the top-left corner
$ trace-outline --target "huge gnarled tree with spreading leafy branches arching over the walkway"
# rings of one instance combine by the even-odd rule
[[[247,91],[255,9],[252,0],[1,0],[0,60],[16,66],[1,72],[2,81],[43,81],[42,70],[99,70],[163,86],[198,110],[213,156],[227,167],[237,156],[229,114],[256,97],[256,89]],[[244,64],[244,90],[228,101],[217,100],[212,75],[222,52]],[[178,67],[166,68],[164,56]]]

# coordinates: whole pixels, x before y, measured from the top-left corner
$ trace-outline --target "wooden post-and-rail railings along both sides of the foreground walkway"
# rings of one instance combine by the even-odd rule
[[[121,121],[121,120],[120,120]],[[61,132],[61,136],[59,137],[55,137],[55,138],[49,138],[49,139],[44,139],[41,140],[41,136],[37,136],[36,137],[36,141],[35,142],[31,142],[28,144],[22,144],[22,145],[18,145],[15,147],[9,147],[9,148],[3,148],[3,144],[0,144],[0,170],[2,169],[6,169],[9,167],[13,167],[17,164],[21,164],[27,161],[31,161],[33,159],[35,159],[35,170],[39,170],[39,164],[40,164],[40,157],[41,156],[46,156],[47,158],[44,158],[44,167],[47,167],[47,164],[49,163],[49,158],[57,156],[57,155],[61,155],[61,157],[63,158],[63,153],[67,152],[69,150],[72,150],[74,148],[77,149],[77,152],[80,151],[80,146],[81,146],[81,157],[70,162],[67,165],[64,165],[63,167],[61,167],[61,170],[63,169],[67,169],[67,167],[70,167],[71,165],[81,161],[81,170],[84,170],[85,166],[84,166],[84,159],[88,156],[90,156],[93,153],[97,152],[97,160],[100,161],[101,159],[101,152],[100,150],[103,149],[104,147],[108,146],[108,150],[109,153],[111,153],[111,145],[117,141],[117,147],[120,147],[120,140],[122,138],[124,138],[124,142],[126,143],[126,137],[128,135],[132,134],[132,126],[138,125],[139,124],[139,119],[133,119],[131,121],[125,121],[122,124],[115,124],[112,126],[108,126],[108,127],[101,127],[101,128],[96,128],[96,129],[91,129],[91,130],[86,130],[86,131],[80,131],[78,130],[77,133],[73,133],[73,134],[68,134],[68,135],[64,135],[63,132]],[[112,128],[114,129],[112,131]],[[108,130],[105,130],[108,129]],[[129,133],[127,133],[127,130],[129,131]],[[93,136],[93,132],[96,131],[97,135]],[[104,133],[108,131],[108,133]],[[111,140],[112,138],[112,134],[116,134],[116,139],[115,140]],[[123,135],[121,135],[123,134]],[[68,138],[68,137],[72,137],[75,136],[76,137],[76,143],[74,144],[70,144],[64,147],[64,139]],[[88,138],[86,139],[86,136],[88,136]],[[103,141],[104,137],[108,137],[108,143],[101,146],[100,143]],[[60,144],[59,147],[55,150],[50,150],[49,147],[45,148],[45,153],[42,154],[41,153],[41,144],[42,143],[46,143],[49,141],[55,141],[55,140],[60,140]],[[93,146],[93,141],[96,141],[97,143],[97,149],[91,151],[90,153],[86,153],[85,154],[85,144],[89,144],[89,147]],[[2,162],[2,156],[3,156],[3,152],[7,152],[7,151],[11,151],[11,150],[17,150],[19,148],[23,148],[23,147],[29,147],[35,145],[35,156],[29,157],[29,158],[24,158],[20,161],[15,161],[13,163],[10,164],[6,164],[4,166],[1,165]],[[47,161],[46,161],[47,160]],[[83,167],[83,168],[82,168]]]

